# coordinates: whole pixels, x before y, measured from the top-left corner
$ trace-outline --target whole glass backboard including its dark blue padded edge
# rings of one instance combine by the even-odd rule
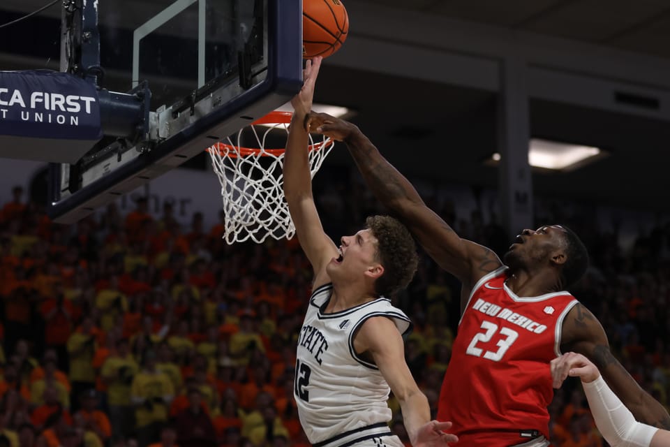
[[[64,30],[75,31],[63,36],[61,71],[94,78],[101,105],[115,105],[103,110],[111,134],[78,163],[51,166],[55,221],[77,221],[179,166],[301,87],[300,0],[63,3]]]

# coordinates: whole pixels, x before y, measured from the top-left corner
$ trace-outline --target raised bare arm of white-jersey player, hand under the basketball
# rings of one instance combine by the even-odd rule
[[[300,245],[314,270],[315,286],[327,281],[323,277],[325,265],[331,258],[337,256],[337,247],[324,233],[316,210],[307,154],[309,138],[305,129],[305,118],[312,107],[314,85],[321,59],[315,57],[313,61],[306,62],[303,73],[304,85],[291,101],[295,111],[288,132],[283,163],[284,196]]]

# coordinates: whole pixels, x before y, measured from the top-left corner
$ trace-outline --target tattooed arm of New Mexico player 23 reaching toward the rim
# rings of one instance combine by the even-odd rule
[[[312,113],[309,121],[311,129],[346,143],[375,196],[410,229],[441,268],[471,286],[484,274],[500,267],[500,259],[493,251],[461,239],[427,207],[409,180],[380,154],[357,126],[325,113]]]

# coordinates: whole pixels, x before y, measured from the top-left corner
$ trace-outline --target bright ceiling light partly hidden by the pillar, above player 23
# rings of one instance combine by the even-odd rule
[[[598,147],[532,138],[528,147],[528,164],[534,168],[569,171],[605,155],[606,152]],[[498,161],[500,154],[496,152],[488,164],[495,164]]]

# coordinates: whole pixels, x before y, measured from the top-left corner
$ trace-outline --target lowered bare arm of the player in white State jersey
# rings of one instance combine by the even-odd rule
[[[393,321],[384,316],[369,318],[357,332],[354,346],[357,352],[372,357],[398,399],[412,446],[445,446],[458,441],[456,435],[444,432],[451,427],[450,422],[430,420],[428,399],[412,378],[403,339]]]

